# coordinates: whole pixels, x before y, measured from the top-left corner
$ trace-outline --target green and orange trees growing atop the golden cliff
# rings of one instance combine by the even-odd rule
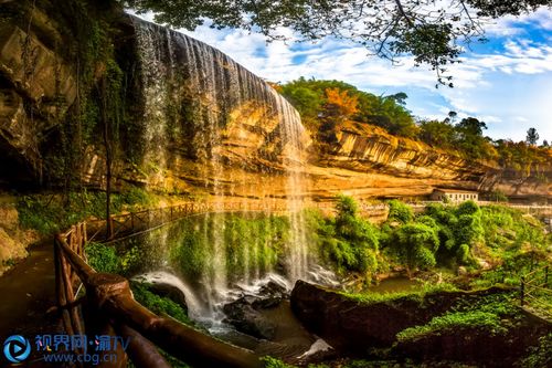
[[[550,160],[549,141],[537,147],[539,135],[534,128],[528,130],[527,141],[513,143],[491,140],[484,134],[485,122],[476,117],[459,119],[456,112],[449,112],[443,120],[415,122],[405,107],[408,96],[402,92],[376,96],[344,82],[305,77],[273,85],[299,111],[304,124],[320,143],[336,144],[339,127],[352,120],[382,127],[395,136],[420,139],[466,159],[498,161],[528,175],[534,165]]]

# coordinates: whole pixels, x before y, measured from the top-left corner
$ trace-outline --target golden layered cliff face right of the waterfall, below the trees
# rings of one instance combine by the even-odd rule
[[[339,192],[358,198],[421,197],[436,187],[491,191],[508,196],[552,194],[552,158],[531,175],[493,162],[467,161],[421,141],[395,137],[374,126],[348,122],[338,144],[314,155],[311,193],[330,198]]]

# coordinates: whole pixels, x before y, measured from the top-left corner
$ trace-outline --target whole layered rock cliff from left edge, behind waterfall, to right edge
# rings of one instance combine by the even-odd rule
[[[0,6],[13,11],[14,3]],[[63,45],[79,40],[62,32],[65,25],[51,14],[54,8],[33,8],[23,19],[6,11],[8,21],[0,27],[0,154],[6,157],[0,183],[11,187],[36,185],[47,176],[44,141],[61,129],[78,95],[78,65]],[[119,15],[114,43],[127,84],[127,112],[115,151],[116,188],[131,182],[195,198],[284,202],[342,192],[361,199],[420,197],[435,187],[551,196],[552,164],[539,169],[539,178],[520,176],[354,123],[338,132],[333,147],[320,151],[297,112],[227,55]],[[102,65],[96,70],[99,77]],[[77,175],[102,188],[105,149],[102,132],[94,134],[97,143],[82,148]]]

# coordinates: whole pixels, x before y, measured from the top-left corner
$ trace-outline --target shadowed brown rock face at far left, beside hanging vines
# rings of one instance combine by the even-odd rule
[[[32,181],[41,176],[41,140],[74,103],[76,78],[54,51],[63,40],[52,19],[34,9],[20,20],[10,14],[20,8],[6,9],[12,17],[0,22],[0,182]]]

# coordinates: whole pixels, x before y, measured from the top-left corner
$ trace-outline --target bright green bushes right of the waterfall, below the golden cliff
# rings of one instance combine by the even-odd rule
[[[453,273],[458,266],[468,272],[492,267],[477,281],[490,285],[518,282],[532,263],[545,260],[552,244],[539,221],[503,206],[432,203],[414,214],[408,206],[392,200],[389,208],[389,218],[380,228],[360,217],[349,197],[339,199],[335,218],[310,212],[312,241],[322,260],[341,274],[357,272],[368,280],[396,266],[410,275],[435,267]]]

